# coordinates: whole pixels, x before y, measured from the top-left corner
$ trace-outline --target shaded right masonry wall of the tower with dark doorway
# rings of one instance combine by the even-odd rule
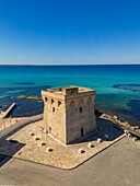
[[[91,94],[66,102],[67,143],[95,131],[94,97]]]

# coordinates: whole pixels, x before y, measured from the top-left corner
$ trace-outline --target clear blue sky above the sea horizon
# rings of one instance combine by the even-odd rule
[[[7,63],[140,63],[140,0],[0,0]]]

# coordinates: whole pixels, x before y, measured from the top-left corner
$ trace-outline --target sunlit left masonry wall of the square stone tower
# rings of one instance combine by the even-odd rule
[[[44,129],[47,133],[58,139],[62,143],[66,141],[66,103],[59,97],[49,96],[47,93],[44,97]],[[47,100],[46,100],[47,97]]]

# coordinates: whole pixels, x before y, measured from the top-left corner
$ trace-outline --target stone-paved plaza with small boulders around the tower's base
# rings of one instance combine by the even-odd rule
[[[124,138],[122,133],[107,120],[98,120],[97,129],[100,132],[82,141],[63,146],[43,132],[43,120],[39,120],[1,140],[0,154],[60,168],[73,168]],[[104,138],[106,133],[107,139]],[[97,142],[97,138],[103,139],[103,142]],[[90,143],[93,147],[89,147]],[[80,150],[83,150],[83,153]]]

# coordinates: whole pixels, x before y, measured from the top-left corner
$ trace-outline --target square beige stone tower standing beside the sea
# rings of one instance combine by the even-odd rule
[[[65,86],[42,91],[44,128],[57,140],[69,144],[96,129],[95,91]]]

